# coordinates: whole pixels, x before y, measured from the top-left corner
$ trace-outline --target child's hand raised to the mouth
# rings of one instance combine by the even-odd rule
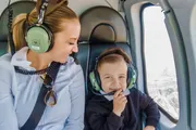
[[[118,90],[113,95],[113,113],[121,116],[127,103],[126,96],[122,93],[122,89]]]

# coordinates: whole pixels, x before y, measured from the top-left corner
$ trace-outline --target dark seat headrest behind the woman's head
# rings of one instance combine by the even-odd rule
[[[13,17],[21,13],[29,13],[36,5],[35,1],[16,1],[11,4]],[[8,36],[8,8],[3,10],[0,16],[0,36]]]

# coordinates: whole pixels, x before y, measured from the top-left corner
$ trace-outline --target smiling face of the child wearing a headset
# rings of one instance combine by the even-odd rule
[[[126,89],[127,65],[124,61],[103,63],[98,72],[101,87],[106,93]]]

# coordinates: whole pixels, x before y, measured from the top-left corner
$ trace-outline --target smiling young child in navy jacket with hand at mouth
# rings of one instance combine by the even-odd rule
[[[127,72],[133,69],[130,65],[130,57],[120,48],[106,50],[99,56],[93,74],[95,77],[97,75],[100,81],[90,79],[99,94],[93,96],[86,107],[86,121],[91,130],[138,130],[143,112],[147,116],[144,130],[156,129],[160,118],[157,104],[136,88],[127,89]]]

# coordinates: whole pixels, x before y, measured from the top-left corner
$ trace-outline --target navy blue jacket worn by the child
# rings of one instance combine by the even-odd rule
[[[146,114],[146,126],[157,127],[160,113],[151,98],[136,88],[132,88],[126,98],[126,106],[119,117],[112,113],[113,101],[95,95],[87,103],[85,118],[88,127],[85,130],[139,130],[143,112]]]

